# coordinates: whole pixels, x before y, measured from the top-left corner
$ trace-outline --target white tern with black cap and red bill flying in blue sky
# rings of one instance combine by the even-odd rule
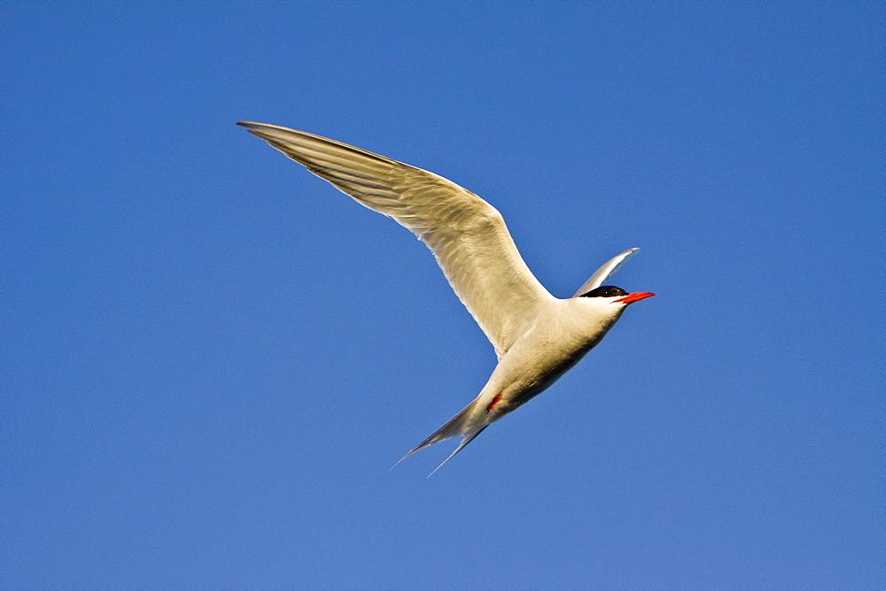
[[[498,365],[477,398],[400,462],[419,449],[462,437],[437,472],[487,426],[577,364],[629,304],[655,295],[601,287],[639,250],[627,249],[602,265],[575,295],[558,299],[520,257],[501,213],[451,180],[319,135],[264,123],[238,125],[416,234],[495,348]]]

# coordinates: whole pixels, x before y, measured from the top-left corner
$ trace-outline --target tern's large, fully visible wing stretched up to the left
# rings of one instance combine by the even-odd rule
[[[411,230],[480,328],[504,355],[540,302],[552,300],[492,205],[434,173],[317,135],[241,122],[340,191]]]

